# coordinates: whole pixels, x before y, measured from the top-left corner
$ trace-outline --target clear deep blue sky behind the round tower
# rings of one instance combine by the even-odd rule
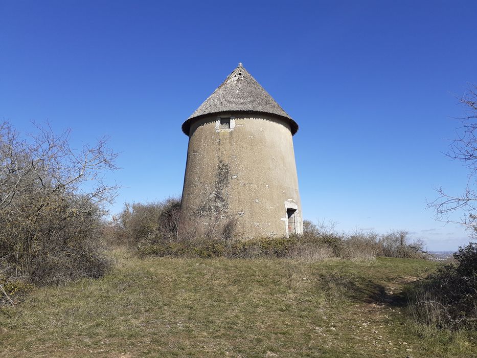
[[[477,3],[0,1],[0,118],[107,135],[124,188],[111,209],[180,195],[180,126],[243,62],[300,125],[305,218],[469,241],[426,198],[467,181],[447,151],[477,83]]]

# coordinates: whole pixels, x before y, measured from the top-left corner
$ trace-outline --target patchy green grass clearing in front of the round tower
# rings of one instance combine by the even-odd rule
[[[102,279],[36,288],[2,308],[0,356],[477,355],[475,336],[403,318],[396,297],[434,269],[427,261],[111,256]]]

